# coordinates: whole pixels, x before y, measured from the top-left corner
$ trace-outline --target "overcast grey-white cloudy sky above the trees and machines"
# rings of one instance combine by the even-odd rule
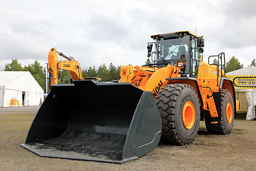
[[[12,58],[45,66],[53,47],[83,69],[111,62],[141,66],[151,35],[187,30],[204,36],[204,61],[222,51],[226,61],[235,56],[244,67],[256,58],[254,0],[0,2],[0,71]]]

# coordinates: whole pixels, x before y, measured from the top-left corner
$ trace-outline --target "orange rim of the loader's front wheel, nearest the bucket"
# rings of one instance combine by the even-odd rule
[[[187,101],[183,106],[183,110],[182,110],[183,125],[187,129],[191,129],[195,123],[195,120],[196,120],[195,106],[191,101]]]

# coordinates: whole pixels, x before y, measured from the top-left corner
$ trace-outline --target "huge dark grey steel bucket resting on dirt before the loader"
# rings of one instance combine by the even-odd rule
[[[161,118],[151,92],[129,83],[52,86],[22,144],[42,157],[122,163],[156,148]]]

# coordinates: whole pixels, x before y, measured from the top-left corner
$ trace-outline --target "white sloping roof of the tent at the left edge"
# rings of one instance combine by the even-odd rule
[[[28,71],[0,71],[0,89],[42,92],[43,89]]]

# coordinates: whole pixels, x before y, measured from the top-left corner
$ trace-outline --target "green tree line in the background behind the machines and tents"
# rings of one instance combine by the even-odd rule
[[[149,59],[146,63],[149,63]],[[217,64],[217,60],[213,61],[213,64]],[[255,58],[252,60],[251,66],[256,66]],[[243,65],[239,62],[238,58],[233,56],[230,60],[226,63],[225,71],[226,73],[230,71],[235,71],[240,68],[243,68]],[[97,77],[101,78],[101,81],[112,81],[112,80],[119,80],[120,79],[120,70],[121,66],[114,66],[113,63],[107,66],[105,63],[100,65],[98,68],[95,66],[90,66],[88,69],[82,69],[82,76],[83,77]],[[43,68],[38,61],[29,64],[28,66],[21,66],[21,63],[18,63],[18,59],[12,59],[11,63],[7,63],[5,65],[4,71],[29,71],[33,78],[36,79],[38,84],[43,88],[44,92],[46,93],[46,68]],[[59,83],[70,83],[70,74],[68,71],[60,71],[59,74]]]

